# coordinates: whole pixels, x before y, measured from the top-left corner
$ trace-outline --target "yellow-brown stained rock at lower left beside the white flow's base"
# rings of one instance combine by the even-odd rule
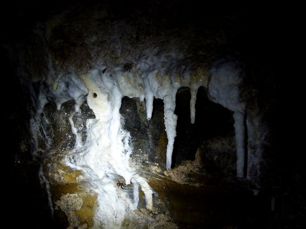
[[[79,219],[78,228],[85,228],[86,225],[86,228],[91,228],[93,226],[93,217],[95,214],[94,209],[97,207],[97,194],[88,190],[86,188],[87,184],[78,179],[82,176],[81,171],[66,166],[61,157],[52,158],[52,162],[50,163],[49,161],[46,165],[48,166],[44,168],[50,172],[52,201],[58,207],[58,211],[55,212],[55,214],[57,214],[56,217],[64,222],[67,218],[74,216],[76,219]],[[69,204],[65,207],[62,202],[67,198],[70,202],[74,200],[82,202],[81,207],[75,208]],[[73,219],[70,219],[67,223],[71,224],[72,221]]]

